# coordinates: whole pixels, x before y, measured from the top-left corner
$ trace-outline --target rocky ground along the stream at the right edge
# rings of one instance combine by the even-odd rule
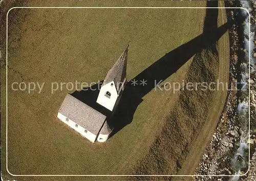
[[[256,1],[250,2],[251,8],[251,27],[255,26],[255,9]],[[243,4],[243,2],[242,2]],[[241,6],[239,2],[227,2],[226,6]],[[208,147],[201,159],[201,163],[197,168],[196,174],[199,175],[243,175],[244,176],[233,176],[233,177],[195,177],[195,180],[255,180],[255,159],[256,159],[256,126],[255,126],[255,81],[256,74],[254,72],[255,64],[251,63],[251,76],[250,76],[250,137],[246,137],[244,127],[248,127],[248,112],[239,112],[238,106],[246,105],[243,102],[245,97],[248,97],[249,91],[245,93],[237,92],[236,81],[242,80],[241,72],[245,71],[243,67],[249,66],[249,64],[244,61],[245,49],[244,38],[245,35],[241,31],[241,11],[240,9],[227,9],[227,15],[229,21],[235,20],[236,24],[232,25],[229,30],[230,36],[230,73],[229,73],[229,90],[227,94],[227,99],[225,103],[225,108],[220,117],[216,131],[210,140]],[[239,17],[240,16],[240,17]],[[254,30],[251,30],[254,34]],[[255,36],[254,36],[254,47],[252,56],[255,57]],[[247,60],[248,61],[248,60]],[[247,103],[248,105],[248,103]],[[243,107],[244,108],[244,107]],[[248,110],[248,109],[247,109]],[[247,116],[247,119],[245,118]],[[250,147],[249,144],[250,143]],[[250,159],[249,156],[250,150]],[[248,162],[250,160],[250,162]],[[249,164],[249,165],[248,165]],[[247,172],[248,167],[250,167],[249,172]]]

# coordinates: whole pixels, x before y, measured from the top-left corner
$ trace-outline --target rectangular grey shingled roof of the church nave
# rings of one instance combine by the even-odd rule
[[[95,135],[106,120],[105,115],[70,94],[67,94],[58,112]]]

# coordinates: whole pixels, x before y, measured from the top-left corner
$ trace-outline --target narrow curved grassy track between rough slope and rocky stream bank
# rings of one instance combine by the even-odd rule
[[[224,2],[219,2],[220,7],[224,7]],[[219,22],[218,25],[223,25],[226,20],[225,9],[219,9]],[[228,32],[226,32],[218,43],[219,51],[219,80],[220,82],[228,82],[228,73],[229,73],[229,47],[228,47]],[[194,143],[194,146],[189,151],[189,154],[182,165],[181,170],[178,172],[178,175],[193,175],[195,169],[197,168],[200,159],[202,157],[203,151],[206,148],[208,141],[211,135],[214,133],[216,125],[219,121],[223,105],[225,103],[226,91],[220,90],[216,94],[216,99],[212,107],[212,111],[208,116],[207,121],[203,128],[201,129],[197,140]],[[187,180],[188,177],[175,177],[174,180]]]

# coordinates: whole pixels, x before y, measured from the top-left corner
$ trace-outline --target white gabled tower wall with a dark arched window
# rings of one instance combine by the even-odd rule
[[[106,92],[111,93],[110,98],[105,96]],[[118,94],[116,91],[116,86],[114,81],[112,81],[112,82],[109,82],[108,84],[101,86],[96,102],[112,111],[115,106],[117,98],[118,98]]]

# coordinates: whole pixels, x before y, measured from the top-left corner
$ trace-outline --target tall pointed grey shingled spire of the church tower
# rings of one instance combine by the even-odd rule
[[[125,81],[126,78],[126,65],[127,65],[127,53],[128,53],[128,47],[125,48],[123,53],[120,55],[120,57],[117,59],[116,63],[112,66],[108,74],[106,74],[106,77],[102,83],[102,85],[105,85],[111,81],[115,82],[117,92],[120,92],[120,89],[122,88],[122,83]]]

